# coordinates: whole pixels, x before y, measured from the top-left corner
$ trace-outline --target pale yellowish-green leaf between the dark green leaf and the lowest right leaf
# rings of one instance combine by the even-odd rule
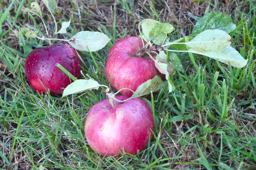
[[[222,51],[230,46],[232,38],[225,31],[218,29],[205,30],[186,45],[197,51]]]

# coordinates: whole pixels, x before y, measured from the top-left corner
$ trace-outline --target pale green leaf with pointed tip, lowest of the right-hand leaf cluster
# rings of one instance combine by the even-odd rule
[[[224,62],[236,67],[243,68],[247,64],[248,59],[244,59],[236,49],[231,46],[226,47],[223,51],[197,51],[195,49],[189,49],[189,52],[195,54],[201,54],[212,59],[217,59],[220,62]]]

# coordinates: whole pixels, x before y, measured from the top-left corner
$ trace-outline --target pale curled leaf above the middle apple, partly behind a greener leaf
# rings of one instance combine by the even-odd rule
[[[141,21],[140,26],[142,27],[142,32],[144,33],[144,36],[147,42],[151,41],[149,39],[149,32],[157,24],[160,24],[160,22],[152,19],[144,19]]]

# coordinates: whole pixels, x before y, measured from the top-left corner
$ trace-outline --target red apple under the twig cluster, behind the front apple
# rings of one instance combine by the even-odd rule
[[[141,84],[156,75],[165,79],[165,75],[157,70],[151,58],[136,56],[136,48],[143,48],[142,39],[126,37],[117,41],[109,51],[105,74],[116,90],[129,88],[136,91]],[[133,94],[129,90],[122,90],[120,93],[125,96]]]

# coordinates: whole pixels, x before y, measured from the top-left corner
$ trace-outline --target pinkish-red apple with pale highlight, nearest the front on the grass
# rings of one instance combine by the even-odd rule
[[[125,100],[128,96],[116,96],[116,99]],[[118,148],[136,154],[147,146],[152,137],[152,112],[139,98],[114,101],[114,105],[112,108],[109,99],[105,99],[90,108],[84,125],[86,140],[102,156],[117,155]]]

